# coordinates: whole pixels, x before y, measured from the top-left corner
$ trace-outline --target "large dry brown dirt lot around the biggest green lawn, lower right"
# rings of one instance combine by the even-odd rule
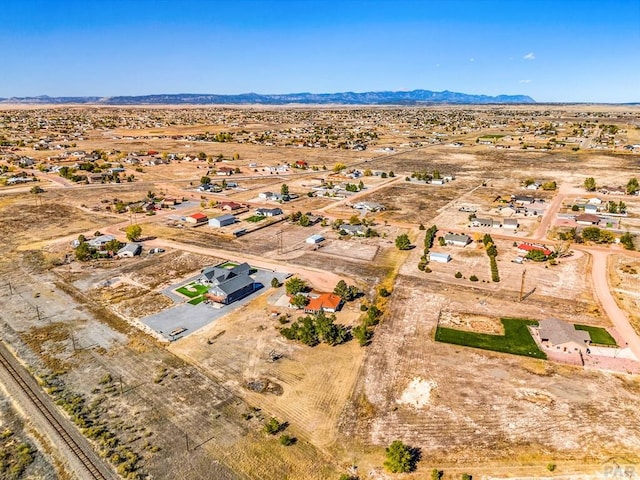
[[[638,394],[635,382],[435,343],[441,310],[465,308],[482,316],[509,311],[531,318],[537,310],[495,297],[472,311],[469,307],[462,295],[434,293],[429,284],[417,285],[407,277],[396,282],[390,305],[394,315],[376,333],[343,418],[346,438],[380,446],[402,438],[420,447],[425,461],[416,478],[431,467],[455,471],[465,464],[476,465],[475,476],[496,474],[501,464],[511,465],[508,471],[515,473],[515,465],[547,461],[557,463],[559,473],[571,472],[574,461],[584,469],[623,452],[637,461],[640,436],[628,429],[638,421],[632,407]],[[427,400],[421,408],[400,401],[416,379],[429,382],[429,388],[423,386]],[[617,394],[614,398],[602,391]],[[625,434],[612,437],[612,430]],[[493,466],[483,468],[485,463]],[[544,475],[544,467],[528,472]]]

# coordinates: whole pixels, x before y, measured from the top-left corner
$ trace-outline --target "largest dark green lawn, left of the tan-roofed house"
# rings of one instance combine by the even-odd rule
[[[504,325],[504,335],[489,335],[486,333],[465,332],[452,328],[438,327],[436,340],[454,345],[482,348],[495,352],[512,353],[534,358],[547,358],[531,338],[527,325],[537,325],[534,320],[520,318],[501,318]]]

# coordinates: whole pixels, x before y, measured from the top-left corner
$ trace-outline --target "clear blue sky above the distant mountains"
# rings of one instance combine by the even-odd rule
[[[3,0],[0,97],[451,90],[640,101],[640,0]]]

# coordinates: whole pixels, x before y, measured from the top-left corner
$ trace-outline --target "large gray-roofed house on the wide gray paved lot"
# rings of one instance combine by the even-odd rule
[[[205,296],[214,302],[229,304],[253,293],[259,287],[249,275],[251,267],[241,263],[233,268],[207,267],[199,281],[210,285]]]

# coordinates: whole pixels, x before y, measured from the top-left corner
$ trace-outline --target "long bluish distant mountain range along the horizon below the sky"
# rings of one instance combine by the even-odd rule
[[[433,92],[413,90],[410,92],[342,92],[342,93],[286,93],[261,95],[242,93],[239,95],[216,95],[176,93],[118,97],[12,97],[0,98],[0,103],[22,104],[98,104],[98,105],[433,105],[433,104],[490,104],[490,103],[536,103],[527,95],[470,95],[467,93]]]

